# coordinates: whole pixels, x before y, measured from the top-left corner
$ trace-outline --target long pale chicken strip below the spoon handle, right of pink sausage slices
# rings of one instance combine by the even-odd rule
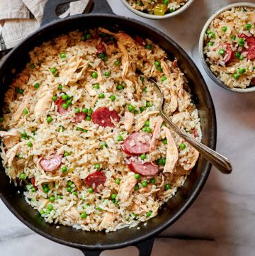
[[[164,166],[163,172],[174,172],[174,167],[176,165],[176,162],[178,160],[178,150],[176,147],[176,143],[174,141],[173,136],[171,135],[171,132],[169,128],[163,127],[163,130],[166,135],[167,140],[167,148],[166,148],[166,165]]]

